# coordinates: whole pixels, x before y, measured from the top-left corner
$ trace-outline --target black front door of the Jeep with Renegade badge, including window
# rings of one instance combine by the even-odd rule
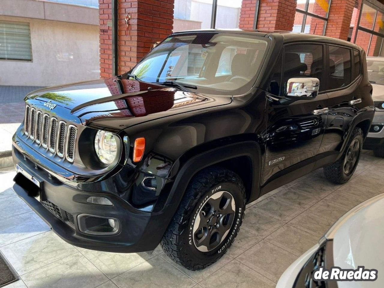
[[[312,100],[289,104],[268,101],[262,185],[287,173],[291,173],[293,178],[300,177],[314,167],[314,156],[321,146],[327,118],[324,108],[328,97],[323,92],[322,81],[324,51],[325,46],[321,44],[290,44],[283,50],[281,68],[279,65],[275,68],[270,92],[283,96],[286,83],[294,77],[318,78],[320,90]],[[290,181],[289,177],[287,181]]]

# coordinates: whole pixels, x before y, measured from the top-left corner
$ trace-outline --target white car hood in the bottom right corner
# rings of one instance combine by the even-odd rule
[[[379,273],[384,271],[381,257],[384,239],[384,231],[381,229],[384,222],[383,207],[384,194],[381,194],[351,209],[331,227],[326,238],[333,238],[334,266],[343,269],[365,266],[366,269],[377,269]],[[338,282],[338,285],[339,288],[362,287],[358,281]],[[381,287],[382,282],[369,282],[369,285]]]

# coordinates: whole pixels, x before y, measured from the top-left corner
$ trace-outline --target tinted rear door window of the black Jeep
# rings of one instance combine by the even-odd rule
[[[337,89],[351,83],[351,50],[329,46],[328,89]]]

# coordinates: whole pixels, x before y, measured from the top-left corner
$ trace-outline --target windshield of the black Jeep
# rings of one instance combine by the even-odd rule
[[[193,85],[199,92],[241,94],[255,82],[267,41],[220,32],[176,35],[156,46],[131,74],[145,82]]]

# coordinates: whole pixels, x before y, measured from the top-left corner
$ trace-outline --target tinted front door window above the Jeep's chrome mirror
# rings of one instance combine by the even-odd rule
[[[323,74],[323,46],[298,44],[285,47],[283,60],[283,83],[293,77],[314,77],[320,80]]]

